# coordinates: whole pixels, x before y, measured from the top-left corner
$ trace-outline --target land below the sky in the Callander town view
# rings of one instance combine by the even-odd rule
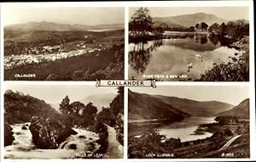
[[[109,25],[65,26],[51,22],[5,26],[5,80],[92,81],[97,77],[123,77],[121,25],[112,25],[110,31],[104,30]],[[102,31],[90,31],[97,28]],[[34,74],[34,77],[15,77],[16,74]]]

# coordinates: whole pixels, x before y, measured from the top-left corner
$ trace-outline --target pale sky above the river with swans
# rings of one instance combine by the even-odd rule
[[[148,8],[152,17],[165,17],[165,16],[176,16],[182,14],[215,14],[219,18],[224,20],[238,20],[246,19],[249,20],[249,8],[248,7],[155,7]],[[137,10],[137,8],[129,8],[129,14]]]

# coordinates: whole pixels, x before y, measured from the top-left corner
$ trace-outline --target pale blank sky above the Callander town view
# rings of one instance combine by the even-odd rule
[[[28,21],[49,21],[60,24],[102,25],[123,24],[124,8],[96,7],[39,7],[4,5],[4,25],[26,23]],[[2,17],[2,16],[1,16]]]

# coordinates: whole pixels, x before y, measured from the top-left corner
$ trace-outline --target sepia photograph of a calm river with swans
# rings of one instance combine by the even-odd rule
[[[129,78],[249,81],[248,7],[129,8]]]

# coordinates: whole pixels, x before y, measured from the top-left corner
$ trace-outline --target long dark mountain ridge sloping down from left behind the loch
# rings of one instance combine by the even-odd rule
[[[179,117],[213,117],[234,105],[218,101],[195,101],[188,98],[150,95],[129,89],[129,120],[160,120]]]

